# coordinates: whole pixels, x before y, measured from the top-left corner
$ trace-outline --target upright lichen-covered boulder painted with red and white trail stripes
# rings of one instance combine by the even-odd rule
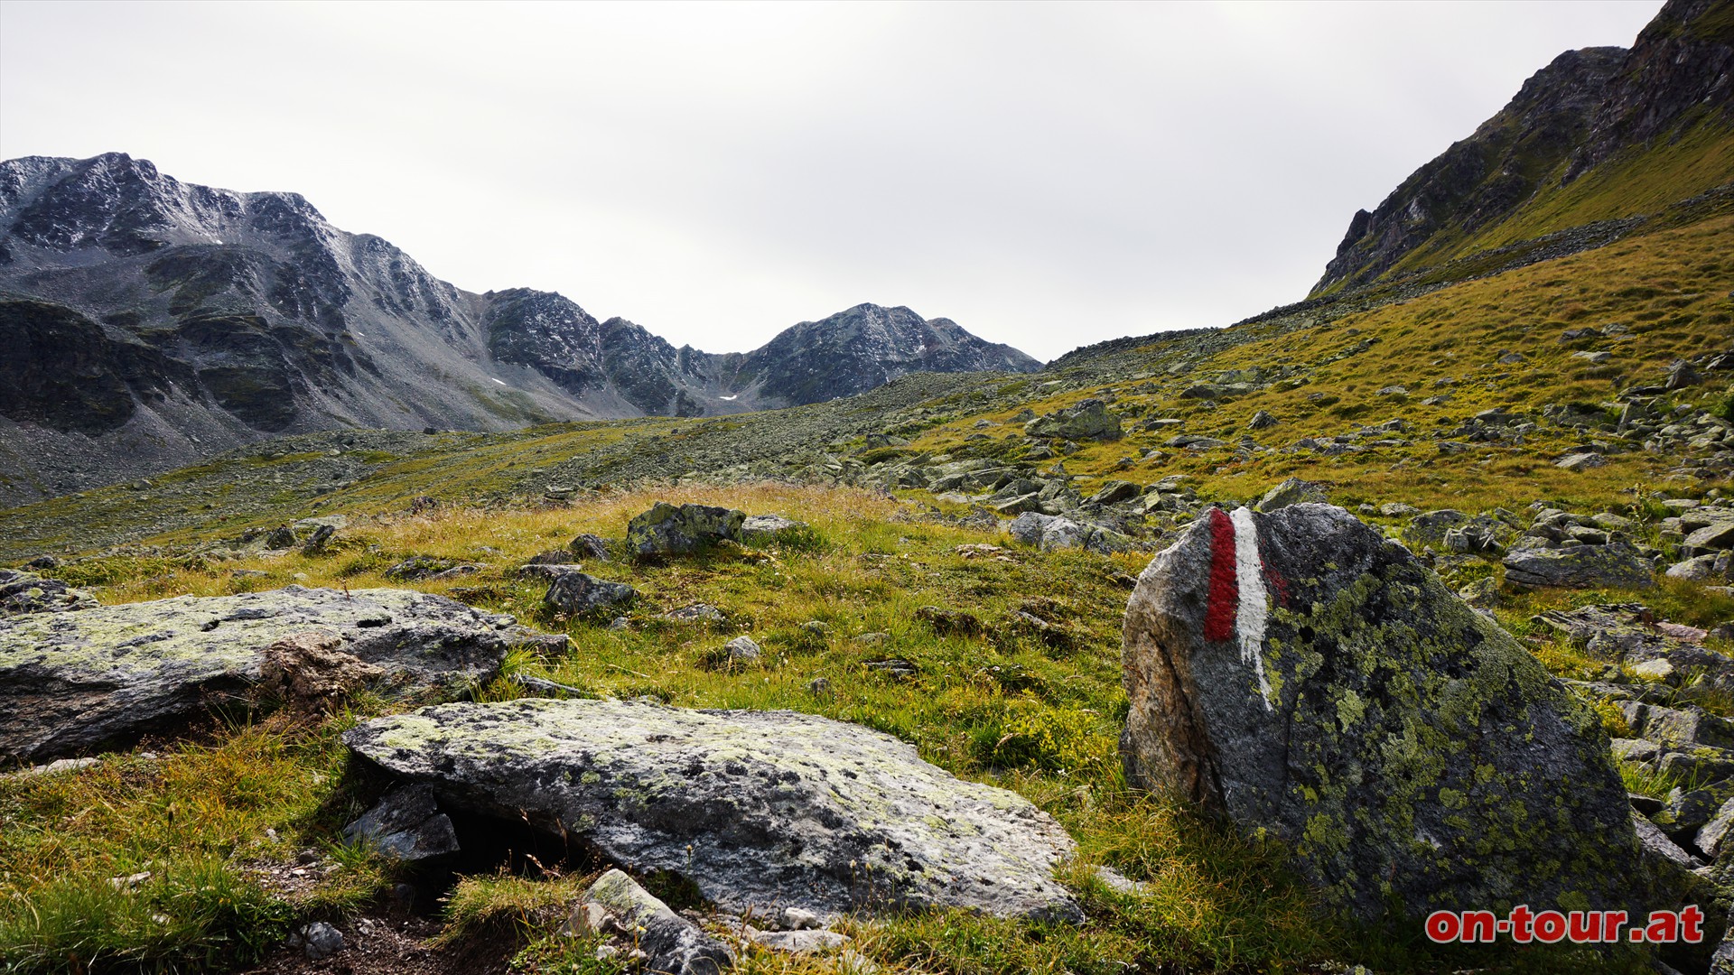
[[[1342,508],[1209,510],[1139,578],[1124,666],[1127,779],[1283,840],[1339,907],[1644,897],[1597,717]]]

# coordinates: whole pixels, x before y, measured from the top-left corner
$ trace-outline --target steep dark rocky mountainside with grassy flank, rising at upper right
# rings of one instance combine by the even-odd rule
[[[1474,135],[1358,212],[1313,293],[1656,213],[1734,182],[1731,71],[1727,0],[1670,0],[1630,50],[1561,54]]]

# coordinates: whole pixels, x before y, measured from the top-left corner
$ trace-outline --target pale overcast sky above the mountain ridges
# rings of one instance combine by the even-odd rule
[[[1659,0],[0,2],[0,156],[307,196],[746,350],[858,302],[1051,359],[1306,297],[1356,208]]]

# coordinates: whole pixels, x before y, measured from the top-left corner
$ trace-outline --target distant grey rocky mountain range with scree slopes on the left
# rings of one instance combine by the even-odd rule
[[[12,501],[288,432],[704,416],[912,371],[1037,368],[950,319],[870,304],[753,352],[676,349],[551,291],[454,288],[293,193],[186,184],[123,153],[0,163]]]

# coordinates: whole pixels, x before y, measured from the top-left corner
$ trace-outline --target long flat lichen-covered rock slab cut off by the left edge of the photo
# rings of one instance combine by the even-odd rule
[[[0,762],[173,727],[260,684],[272,647],[309,631],[401,685],[487,680],[532,637],[510,616],[407,590],[288,586],[0,618]]]

